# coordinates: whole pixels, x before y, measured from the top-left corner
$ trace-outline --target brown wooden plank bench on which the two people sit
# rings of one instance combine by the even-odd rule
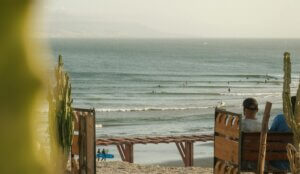
[[[214,129],[214,173],[256,172],[260,133],[241,131],[241,114],[225,110],[215,110]],[[288,160],[286,145],[293,142],[292,133],[268,133],[266,148],[266,172],[286,172],[274,170],[270,160]],[[251,169],[246,165],[252,163]],[[243,165],[242,165],[243,164]]]

